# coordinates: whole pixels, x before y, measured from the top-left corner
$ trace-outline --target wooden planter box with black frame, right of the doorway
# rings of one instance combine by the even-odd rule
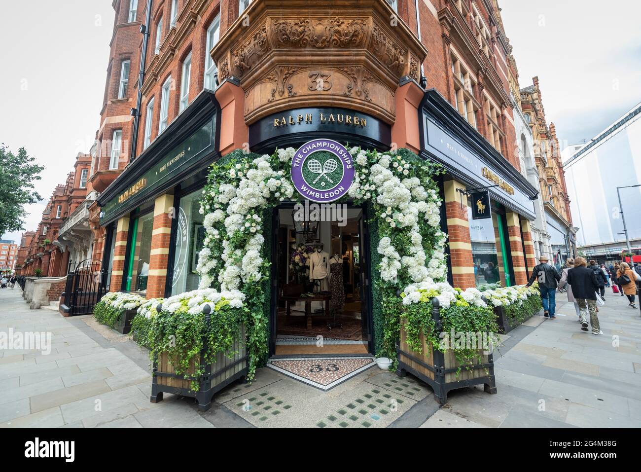
[[[436,325],[441,326],[440,307],[436,298],[432,300],[432,317]],[[462,367],[457,377],[456,371],[461,364],[456,359],[454,351],[447,350],[443,353],[435,350],[426,342],[423,335],[420,336],[421,352],[410,350],[403,329],[404,323],[404,319],[401,319],[401,339],[396,346],[398,359],[396,374],[398,376],[403,377],[409,372],[418,377],[432,387],[434,396],[441,405],[447,403],[447,392],[453,389],[482,384],[486,392],[496,393],[492,353],[483,354],[482,364],[475,364],[469,369]]]

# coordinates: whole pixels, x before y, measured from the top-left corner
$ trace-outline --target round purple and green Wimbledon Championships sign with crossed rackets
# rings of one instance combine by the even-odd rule
[[[329,203],[347,194],[354,181],[352,156],[330,139],[306,142],[294,154],[292,181],[304,198]]]

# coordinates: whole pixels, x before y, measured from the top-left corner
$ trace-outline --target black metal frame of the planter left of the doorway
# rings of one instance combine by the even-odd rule
[[[160,311],[160,307],[159,311]],[[210,310],[207,310],[209,308],[208,306],[204,308],[206,310],[205,312],[205,323],[208,324],[210,322]],[[244,328],[241,330],[241,339],[244,339],[244,334],[245,330]],[[206,342],[203,339],[203,346],[206,346]],[[149,399],[151,403],[158,403],[158,401],[162,401],[163,399],[163,393],[172,393],[176,395],[182,395],[186,396],[189,398],[196,398],[196,401],[198,402],[198,409],[200,411],[207,411],[212,407],[212,400],[213,396],[224,389],[227,385],[231,384],[232,382],[235,382],[238,379],[243,379],[244,382],[246,382],[247,374],[249,373],[249,366],[247,363],[247,354],[244,356],[234,360],[231,363],[226,364],[226,366],[222,367],[221,369],[217,371],[212,371],[212,364],[206,364],[204,362],[204,359],[206,358],[206,355],[208,353],[208,348],[205,347],[203,350],[201,350],[200,353],[200,368],[204,371],[204,374],[199,376],[199,377],[191,377],[188,375],[178,375],[174,373],[169,373],[169,372],[160,372],[158,371],[158,356],[154,356],[154,364],[153,364],[153,374],[152,374],[152,380],[151,380],[151,398]],[[240,369],[237,373],[234,373],[233,375],[229,376],[228,378],[222,380],[219,384],[213,384],[215,381],[215,378],[219,375],[224,375],[227,371],[230,369],[233,369],[234,367],[238,366],[238,364],[244,365],[244,368]],[[176,380],[181,380],[181,381],[187,381],[187,382],[192,382],[193,380],[196,380],[198,382],[198,390],[193,391],[188,388],[183,388],[183,387],[175,387],[172,385],[161,385],[158,384],[158,378],[159,377],[168,377],[168,378],[174,378]]]

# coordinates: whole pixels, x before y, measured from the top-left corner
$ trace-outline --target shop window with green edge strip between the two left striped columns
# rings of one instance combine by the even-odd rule
[[[131,243],[129,244],[127,291],[147,292],[153,229],[153,212],[142,215],[133,221]]]

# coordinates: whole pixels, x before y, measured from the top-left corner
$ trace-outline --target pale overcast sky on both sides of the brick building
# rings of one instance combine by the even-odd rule
[[[590,140],[641,101],[641,1],[499,0],[520,87],[538,76],[562,148]],[[37,14],[33,14],[37,12]],[[3,2],[0,142],[46,169],[25,229],[99,126],[114,12],[111,0]],[[11,19],[8,21],[8,19]],[[21,231],[3,239],[20,241]]]

